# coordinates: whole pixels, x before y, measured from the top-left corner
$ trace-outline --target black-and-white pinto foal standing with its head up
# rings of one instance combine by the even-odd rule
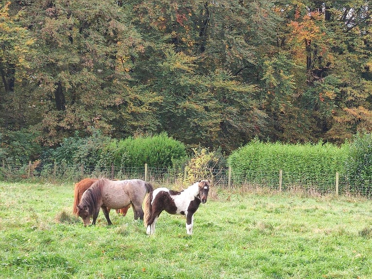
[[[192,234],[194,213],[199,208],[200,203],[205,204],[207,202],[209,187],[209,181],[201,180],[181,192],[167,188],[157,188],[150,192],[144,205],[146,233],[155,233],[155,223],[160,213],[165,210],[169,214],[186,216],[186,232]]]

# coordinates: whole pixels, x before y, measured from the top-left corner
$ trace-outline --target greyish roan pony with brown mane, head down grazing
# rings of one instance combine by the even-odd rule
[[[83,193],[80,203],[77,205],[77,215],[83,219],[84,226],[89,225],[90,216],[93,217],[92,225],[96,225],[101,208],[107,224],[112,225],[107,208],[121,209],[132,205],[135,220],[143,219],[142,202],[146,193],[152,191],[152,185],[140,179],[109,180],[102,178],[94,182]]]

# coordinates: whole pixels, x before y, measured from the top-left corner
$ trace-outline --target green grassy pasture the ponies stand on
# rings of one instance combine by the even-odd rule
[[[0,182],[0,278],[372,278],[371,201],[217,193],[149,237],[132,209],[84,227],[72,183]]]

